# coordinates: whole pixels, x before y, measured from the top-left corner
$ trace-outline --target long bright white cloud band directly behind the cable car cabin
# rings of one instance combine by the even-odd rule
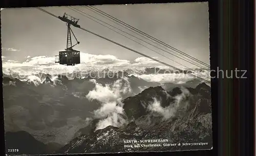
[[[3,69],[19,69],[26,68],[30,72],[35,71],[54,71],[56,74],[73,72],[76,70],[79,71],[88,71],[88,70],[103,70],[103,69],[112,69],[112,70],[125,70],[125,69],[144,69],[146,67],[154,67],[161,65],[158,62],[150,60],[148,58],[139,57],[134,61],[119,59],[113,55],[93,55],[88,53],[80,53],[80,64],[75,66],[66,66],[55,63],[54,57],[49,56],[36,56],[29,57],[24,62],[4,62]],[[160,67],[160,66],[159,66]]]

